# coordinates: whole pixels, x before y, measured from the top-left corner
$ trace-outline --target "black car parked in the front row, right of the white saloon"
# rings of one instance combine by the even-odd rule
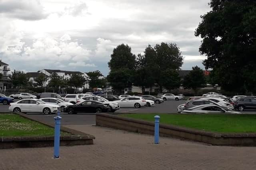
[[[107,112],[110,109],[108,104],[102,102],[87,100],[79,105],[69,105],[64,109],[68,114],[76,113],[100,113]]]

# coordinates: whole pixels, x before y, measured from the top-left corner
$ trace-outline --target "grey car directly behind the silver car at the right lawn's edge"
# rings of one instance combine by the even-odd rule
[[[183,110],[189,109],[191,107],[206,105],[206,104],[212,104],[212,105],[219,106],[219,107],[221,107],[223,109],[226,109],[226,110],[234,111],[234,107],[232,107],[232,106],[220,105],[216,102],[213,102],[211,100],[206,100],[206,99],[198,99],[198,100],[187,101],[186,104],[182,104],[182,105],[178,106],[177,111],[178,111],[178,113],[180,113]]]

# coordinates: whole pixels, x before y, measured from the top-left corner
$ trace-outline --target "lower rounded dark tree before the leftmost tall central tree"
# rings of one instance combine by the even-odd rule
[[[124,88],[132,86],[133,78],[133,72],[128,68],[111,71],[107,76],[110,86],[118,90],[119,93],[121,93]]]

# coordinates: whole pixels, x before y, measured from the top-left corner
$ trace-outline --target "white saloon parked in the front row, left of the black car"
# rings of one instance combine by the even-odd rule
[[[38,99],[23,99],[18,102],[11,103],[9,111],[23,112],[23,113],[44,113],[51,114],[57,113],[60,106],[55,104],[46,104]]]

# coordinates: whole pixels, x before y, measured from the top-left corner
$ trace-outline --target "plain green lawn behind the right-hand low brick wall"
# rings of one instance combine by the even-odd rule
[[[222,133],[256,133],[256,115],[123,114],[119,116],[154,121],[154,115],[159,115],[160,123],[167,125]]]

